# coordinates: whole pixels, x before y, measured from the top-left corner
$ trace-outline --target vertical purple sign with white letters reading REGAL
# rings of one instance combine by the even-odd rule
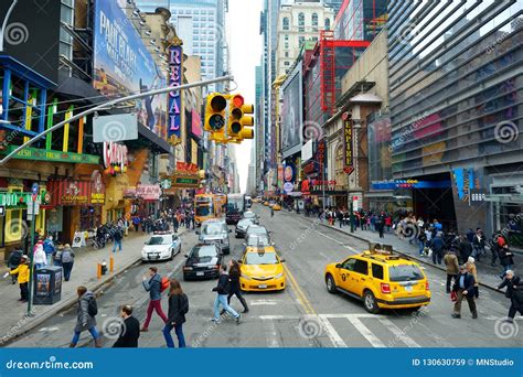
[[[182,84],[182,47],[172,45],[169,47],[169,86]],[[180,90],[169,93],[169,129],[168,138],[181,138],[181,97]]]

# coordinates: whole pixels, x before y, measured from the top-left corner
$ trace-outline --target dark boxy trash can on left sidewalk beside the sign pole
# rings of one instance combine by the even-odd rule
[[[63,270],[60,266],[47,266],[34,271],[33,304],[52,305],[62,298]]]

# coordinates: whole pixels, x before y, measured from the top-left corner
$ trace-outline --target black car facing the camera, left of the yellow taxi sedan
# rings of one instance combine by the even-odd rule
[[[217,244],[199,244],[185,255],[183,280],[218,278],[223,254]]]

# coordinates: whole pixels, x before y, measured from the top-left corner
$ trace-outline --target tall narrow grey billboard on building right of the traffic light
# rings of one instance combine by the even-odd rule
[[[301,64],[289,75],[281,86],[281,151],[284,159],[301,151],[303,97],[301,85]]]

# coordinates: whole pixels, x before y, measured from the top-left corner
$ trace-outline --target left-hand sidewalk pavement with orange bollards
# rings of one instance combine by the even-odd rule
[[[70,281],[62,282],[62,299],[54,305],[33,305],[34,316],[31,317],[25,315],[28,304],[18,301],[20,299],[18,283],[11,284],[10,278],[1,279],[0,297],[2,298],[2,305],[0,306],[0,317],[2,321],[0,322],[0,346],[71,306],[76,301],[76,288],[78,286],[96,290],[135,265],[141,257],[141,249],[148,237],[147,234],[135,233],[129,229],[129,235],[122,240],[122,251],[115,254],[111,251],[113,244],[99,250],[95,250],[93,247],[74,249],[75,262]],[[108,271],[98,280],[96,276],[97,263],[102,263],[105,259],[107,268],[109,268],[111,256],[115,257],[114,273]]]

